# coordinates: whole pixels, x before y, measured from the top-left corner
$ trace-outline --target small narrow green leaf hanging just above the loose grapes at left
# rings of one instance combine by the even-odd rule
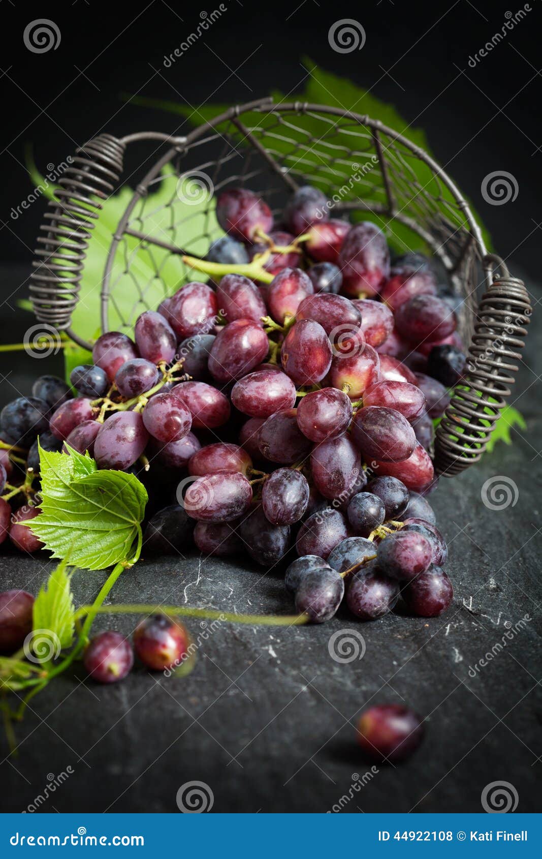
[[[73,594],[71,593],[71,576],[67,572],[68,561],[64,558],[52,571],[46,584],[40,588],[40,593],[33,604],[33,630],[46,630],[57,637],[61,648],[70,647],[74,637]]]

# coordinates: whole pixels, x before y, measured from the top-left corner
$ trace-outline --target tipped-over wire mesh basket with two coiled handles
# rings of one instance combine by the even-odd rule
[[[464,298],[459,325],[469,344],[466,375],[436,431],[435,469],[450,476],[480,459],[521,360],[529,296],[502,259],[487,252],[453,180],[423,149],[368,116],[265,99],[232,107],[186,137],[95,137],[77,149],[40,230],[30,286],[38,320],[90,348],[72,326],[88,242],[103,201],[118,190],[126,147],[143,140],[168,147],[137,185],[109,240],[100,283],[102,332],[130,330],[143,310],[194,279],[182,257],[204,257],[220,235],[215,196],[222,188],[246,185],[280,212],[296,187],[318,186],[332,216],[372,218],[403,252],[422,241]]]

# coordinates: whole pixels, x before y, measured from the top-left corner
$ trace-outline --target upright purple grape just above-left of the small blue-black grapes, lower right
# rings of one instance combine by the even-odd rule
[[[346,434],[315,444],[311,453],[314,485],[325,498],[344,497],[361,467],[359,451]]]

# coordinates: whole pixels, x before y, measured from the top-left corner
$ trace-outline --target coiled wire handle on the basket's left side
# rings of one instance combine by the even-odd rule
[[[76,149],[70,167],[58,181],[57,199],[48,203],[38,236],[30,279],[30,301],[40,322],[67,332],[79,345],[90,348],[70,330],[71,314],[79,300],[88,241],[106,200],[117,190],[125,143],[100,134]]]

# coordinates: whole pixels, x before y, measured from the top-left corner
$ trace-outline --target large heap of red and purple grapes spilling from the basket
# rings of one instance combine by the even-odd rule
[[[432,260],[392,261],[380,228],[331,218],[313,187],[278,224],[241,188],[220,194],[216,216],[225,235],[206,259],[185,258],[207,283],[141,314],[133,339],[102,334],[94,363],[70,375],[75,397],[45,375],[3,408],[0,481],[13,481],[21,450],[33,472],[0,500],[0,542],[40,548],[21,525],[40,515],[39,436],[137,473],[149,490],[143,555],[193,539],[271,569],[295,545],[286,587],[313,622],[337,611],[345,583],[364,620],[399,595],[440,614],[453,592],[425,496],[433,418],[465,368],[458,299]]]

